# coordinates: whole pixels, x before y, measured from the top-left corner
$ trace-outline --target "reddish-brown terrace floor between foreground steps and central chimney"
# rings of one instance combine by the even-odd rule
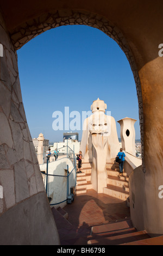
[[[74,196],[74,202],[66,205],[68,221],[76,227],[108,223],[130,217],[127,203],[106,194],[97,194],[94,190]]]

